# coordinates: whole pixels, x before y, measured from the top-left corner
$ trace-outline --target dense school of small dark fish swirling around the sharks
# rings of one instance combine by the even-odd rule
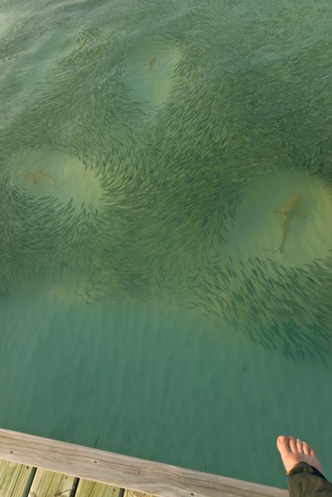
[[[162,18],[162,6],[150,8],[151,16]],[[234,37],[224,13],[214,2],[209,12],[196,8],[132,39],[120,36],[120,26],[127,22],[123,29],[130,32],[140,22],[134,14],[125,20],[115,15],[118,30],[106,20],[92,22],[19,112],[10,102],[24,88],[8,69],[0,90],[2,298],[29,281],[63,274],[78,281],[91,303],[157,297],[226,319],[288,357],[328,353],[332,250],[293,266],[263,251],[254,258],[222,256],[228,226],[236,227],[237,209],[258,180],[294,171],[332,195],[331,116],[325,112],[331,95],[323,85],[310,86],[310,74],[314,82],[324,78],[328,56],[303,52],[265,60],[263,34]],[[271,43],[275,22],[267,15],[264,39],[270,36]],[[198,42],[195,28],[207,25]],[[39,26],[41,34],[46,29]],[[28,39],[32,30],[27,22],[3,35],[0,55],[8,67],[23,57],[22,33]],[[134,99],[123,73],[132,46],[141,44],[146,56],[137,61],[138,76],[153,85],[166,56],[160,48],[153,52],[157,43],[165,53],[176,46],[181,57],[165,102],[153,107]],[[77,208],[75,191],[64,202],[61,187],[45,195],[22,187],[15,178],[27,171],[13,159],[18,148],[79,159],[99,182],[100,198]],[[48,173],[47,164],[41,169]],[[25,179],[42,191],[36,176]]]

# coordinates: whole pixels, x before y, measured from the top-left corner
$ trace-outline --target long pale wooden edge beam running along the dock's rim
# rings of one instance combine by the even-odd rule
[[[272,486],[0,429],[0,458],[160,497],[287,497]]]

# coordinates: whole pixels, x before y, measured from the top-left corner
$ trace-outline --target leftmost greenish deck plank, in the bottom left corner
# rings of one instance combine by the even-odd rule
[[[0,460],[0,497],[22,496],[31,471],[25,464]]]

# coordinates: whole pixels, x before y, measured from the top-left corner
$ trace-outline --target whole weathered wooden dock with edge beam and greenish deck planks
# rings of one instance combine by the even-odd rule
[[[0,430],[0,497],[286,497],[288,491]]]

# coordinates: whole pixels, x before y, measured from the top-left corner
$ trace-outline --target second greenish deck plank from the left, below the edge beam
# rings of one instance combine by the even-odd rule
[[[73,488],[74,477],[53,471],[36,470],[29,497],[69,497]]]

